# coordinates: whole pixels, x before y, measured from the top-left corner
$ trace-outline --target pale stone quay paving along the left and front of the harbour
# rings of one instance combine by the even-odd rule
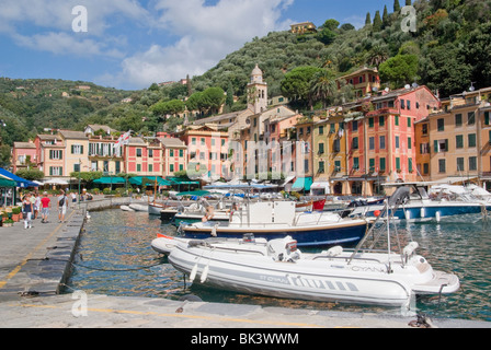
[[[37,219],[28,230],[23,222],[0,228],[1,328],[186,328],[197,334],[209,328],[409,328],[415,320],[415,316],[87,295],[69,290],[60,294],[85,218],[84,210],[77,208],[68,210],[64,223],[52,210],[49,223]],[[491,323],[460,319],[433,319],[433,325],[491,327]]]

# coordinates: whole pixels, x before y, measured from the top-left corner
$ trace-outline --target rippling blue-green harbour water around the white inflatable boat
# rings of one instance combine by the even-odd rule
[[[175,234],[147,212],[118,209],[91,212],[81,236],[69,290],[115,296],[167,298],[179,300],[193,294],[205,302],[330,310],[340,312],[398,313],[392,308],[318,303],[246,295],[205,288],[184,281],[165,257],[150,246],[158,233]],[[491,222],[399,223],[397,231],[412,235],[420,244],[418,254],[434,269],[452,271],[460,279],[460,290],[450,295],[421,296],[415,312],[438,318],[491,322]]]

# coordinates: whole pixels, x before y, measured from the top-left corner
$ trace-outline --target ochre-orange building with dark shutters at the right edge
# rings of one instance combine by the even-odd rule
[[[429,116],[432,180],[491,183],[490,91],[449,96]]]

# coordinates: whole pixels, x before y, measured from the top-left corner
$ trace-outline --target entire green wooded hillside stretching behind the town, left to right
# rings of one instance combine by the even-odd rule
[[[142,133],[162,127],[172,130],[182,120],[165,120],[163,114],[182,110],[182,101],[193,94],[186,103],[192,102],[191,109],[198,108],[203,115],[213,113],[209,100],[220,96],[220,90],[239,97],[227,106],[229,110],[244,107],[246,86],[256,63],[264,72],[270,96],[290,94],[297,97],[299,109],[307,109],[305,101],[296,91],[282,90],[282,81],[305,66],[323,73],[309,78],[307,91],[316,84],[315,79],[333,80],[363,66],[378,67],[382,83],[391,88],[416,82],[437,89],[441,96],[461,93],[471,83],[477,89],[491,86],[491,0],[414,1],[415,32],[401,26],[407,18],[401,7],[410,3],[395,0],[391,8],[367,13],[366,25],[359,30],[327,18],[324,23],[316,23],[318,32],[313,34],[275,32],[255,37],[203,75],[193,77],[189,86],[152,84],[127,92],[84,82],[0,78],[0,119],[8,125],[0,128],[2,141],[11,145],[43,128],[81,130],[89,122]],[[353,12],[365,15],[355,13],[356,9]],[[208,101],[198,96],[206,90]],[[125,97],[132,102],[122,102]],[[313,103],[322,105],[321,101]]]

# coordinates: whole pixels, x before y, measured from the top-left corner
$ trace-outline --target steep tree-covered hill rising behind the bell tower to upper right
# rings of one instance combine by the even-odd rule
[[[194,78],[193,85],[225,90],[231,81],[236,93],[243,94],[249,73],[259,63],[271,95],[282,93],[284,74],[299,66],[326,68],[338,77],[361,66],[380,66],[382,82],[392,86],[418,82],[438,89],[442,96],[461,93],[471,82],[491,86],[490,0],[414,1],[415,32],[401,30],[408,15],[400,9],[406,4],[411,1],[396,0],[393,9],[368,13],[359,30],[326,19],[324,24],[316,23],[317,34],[279,32],[254,38]]]

